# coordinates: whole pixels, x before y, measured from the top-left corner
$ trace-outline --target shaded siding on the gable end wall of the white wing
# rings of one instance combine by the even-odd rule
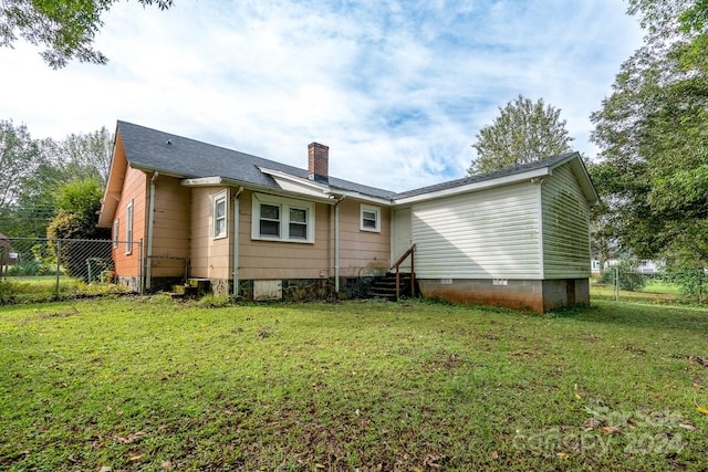
[[[545,279],[590,276],[590,206],[570,165],[553,170],[542,188]]]

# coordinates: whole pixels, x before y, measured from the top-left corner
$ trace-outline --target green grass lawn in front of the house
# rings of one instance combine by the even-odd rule
[[[3,306],[0,469],[699,471],[706,357],[689,305]]]

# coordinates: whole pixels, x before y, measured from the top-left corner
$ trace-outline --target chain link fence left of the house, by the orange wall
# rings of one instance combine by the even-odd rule
[[[3,237],[0,303],[142,293],[142,241]]]

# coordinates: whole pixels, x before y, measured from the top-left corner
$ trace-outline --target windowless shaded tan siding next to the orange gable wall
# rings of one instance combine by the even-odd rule
[[[157,177],[150,276],[185,275],[185,259],[189,258],[190,206],[190,190],[181,186],[179,179]]]

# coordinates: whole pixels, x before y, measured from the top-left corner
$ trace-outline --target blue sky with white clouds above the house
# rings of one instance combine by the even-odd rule
[[[642,43],[626,2],[118,2],[96,46],[106,66],[53,71],[0,49],[0,118],[35,138],[124,119],[391,190],[459,178],[498,107],[522,94],[561,108],[581,153],[590,114]],[[9,93],[8,91],[12,91]]]

